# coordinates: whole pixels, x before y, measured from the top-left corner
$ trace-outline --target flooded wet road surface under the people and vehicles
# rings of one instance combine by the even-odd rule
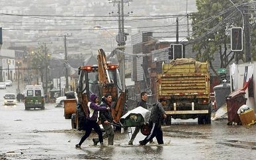
[[[0,97],[7,90],[0,91]],[[8,91],[9,92],[9,91]],[[128,133],[116,133],[114,146],[93,145],[92,134],[75,149],[83,132],[71,130],[64,108],[24,110],[24,104],[4,106],[0,98],[0,159],[256,159],[256,125],[228,126],[227,120],[198,125],[196,120],[163,126],[164,145],[127,145]]]

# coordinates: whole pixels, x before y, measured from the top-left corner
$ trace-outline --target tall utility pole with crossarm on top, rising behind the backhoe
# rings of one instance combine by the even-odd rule
[[[116,35],[116,42],[119,46],[118,49],[122,51],[122,53],[118,52],[116,54],[119,63],[121,81],[122,81],[122,91],[125,91],[125,45],[128,33],[124,32],[124,3],[129,3],[132,0],[112,0],[109,3],[117,3],[118,5],[118,35]]]

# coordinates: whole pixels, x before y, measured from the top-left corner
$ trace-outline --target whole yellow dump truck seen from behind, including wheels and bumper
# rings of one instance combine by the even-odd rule
[[[171,124],[171,118],[198,118],[198,124],[210,124],[208,63],[191,58],[163,62],[162,71],[157,75],[157,98],[161,97],[167,99],[167,124]]]

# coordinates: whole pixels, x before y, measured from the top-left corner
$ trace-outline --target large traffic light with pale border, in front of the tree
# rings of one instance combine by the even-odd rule
[[[243,50],[243,28],[241,27],[231,28],[231,50]]]

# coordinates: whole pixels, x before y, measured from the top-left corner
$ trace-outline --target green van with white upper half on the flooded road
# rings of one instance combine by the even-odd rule
[[[40,108],[44,110],[44,89],[42,85],[27,85],[24,91],[25,110]]]

